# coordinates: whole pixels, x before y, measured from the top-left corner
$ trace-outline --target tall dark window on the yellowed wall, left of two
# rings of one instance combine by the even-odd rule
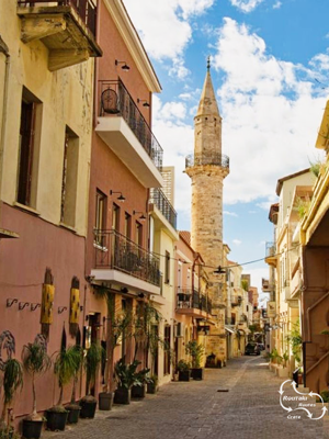
[[[36,183],[42,103],[23,88],[20,157],[18,176],[18,202],[26,206],[36,204]]]

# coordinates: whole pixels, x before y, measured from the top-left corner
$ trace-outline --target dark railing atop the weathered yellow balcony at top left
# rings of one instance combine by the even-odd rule
[[[97,4],[93,0],[19,0],[19,7],[72,7],[80,15],[81,20],[86,24],[86,26],[95,35],[95,26],[97,26]]]

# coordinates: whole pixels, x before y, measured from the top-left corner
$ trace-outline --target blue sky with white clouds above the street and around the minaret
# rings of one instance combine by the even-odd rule
[[[124,0],[162,85],[154,131],[175,166],[179,228],[190,228],[193,116],[212,56],[223,116],[224,240],[239,263],[264,256],[279,178],[321,158],[315,149],[329,86],[328,0]],[[260,286],[266,266],[245,267]]]

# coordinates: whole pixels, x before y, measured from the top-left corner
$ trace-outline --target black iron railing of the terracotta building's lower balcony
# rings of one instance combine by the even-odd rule
[[[159,259],[115,230],[94,230],[94,268],[114,269],[160,286]]]

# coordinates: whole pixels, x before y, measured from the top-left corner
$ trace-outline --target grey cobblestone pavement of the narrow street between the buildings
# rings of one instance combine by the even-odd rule
[[[45,432],[45,439],[272,439],[328,438],[327,420],[287,419],[280,406],[284,379],[274,376],[259,357],[230,360],[220,370],[206,370],[204,381],[172,382],[157,395],[128,406],[98,412],[65,432]],[[288,395],[295,395],[285,384]],[[218,392],[227,389],[229,392]],[[300,390],[300,389],[299,389]],[[319,416],[320,408],[314,412]],[[329,416],[328,416],[329,418]]]

